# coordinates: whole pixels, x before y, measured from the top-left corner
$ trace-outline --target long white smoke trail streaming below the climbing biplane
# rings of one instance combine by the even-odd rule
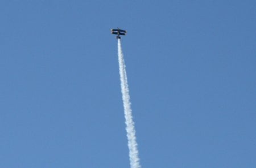
[[[126,123],[126,132],[127,132],[128,147],[129,147],[130,166],[131,168],[139,168],[141,166],[139,165],[139,157],[138,157],[138,149],[137,149],[138,144],[136,142],[133,116],[131,114],[129,88],[127,83],[125,61],[123,59],[123,52],[121,48],[120,39],[118,39],[118,62],[119,62],[119,74],[120,74],[120,80],[121,80],[123,107],[125,109],[125,123]]]

